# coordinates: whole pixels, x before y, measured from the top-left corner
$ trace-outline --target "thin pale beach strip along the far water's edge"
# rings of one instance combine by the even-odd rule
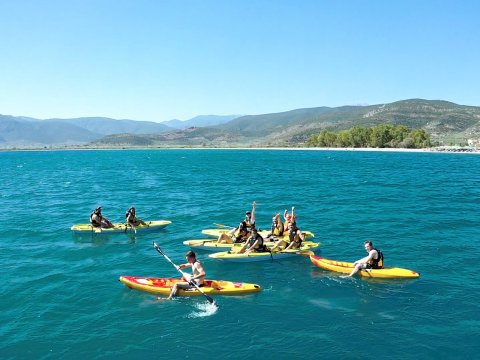
[[[0,152],[23,151],[121,151],[121,150],[275,150],[275,151],[352,151],[352,152],[387,152],[387,153],[450,153],[450,154],[480,154],[479,148],[436,147],[423,149],[404,148],[334,148],[334,147],[25,147],[0,148]]]

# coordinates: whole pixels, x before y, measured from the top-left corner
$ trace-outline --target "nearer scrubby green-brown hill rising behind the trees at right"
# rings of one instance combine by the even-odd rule
[[[467,138],[480,137],[480,107],[410,99],[370,106],[297,109],[242,116],[204,128],[201,136],[199,131],[187,129],[171,133],[168,140],[163,137],[149,139],[151,146],[193,146],[202,143],[202,139],[208,146],[303,146],[312,134],[323,129],[343,130],[382,123],[424,129],[433,142],[460,143]],[[102,146],[108,146],[105,140],[102,139]],[[127,143],[123,145],[128,146]]]

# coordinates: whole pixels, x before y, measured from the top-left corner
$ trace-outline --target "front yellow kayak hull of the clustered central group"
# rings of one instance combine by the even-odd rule
[[[307,255],[313,254],[311,250],[317,248],[318,243],[311,243],[308,246],[302,246],[300,249],[295,250],[283,250],[278,252],[256,252],[250,254],[237,254],[231,251],[222,251],[214,254],[208,255],[209,258],[230,261],[230,262],[255,262],[255,261],[266,261],[266,260],[280,260],[284,258],[294,257],[306,253]]]

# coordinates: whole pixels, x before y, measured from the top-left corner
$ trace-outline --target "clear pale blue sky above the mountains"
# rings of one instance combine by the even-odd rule
[[[0,0],[0,114],[480,106],[480,1]]]

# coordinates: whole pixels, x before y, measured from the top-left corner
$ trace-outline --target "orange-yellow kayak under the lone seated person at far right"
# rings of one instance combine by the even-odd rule
[[[354,268],[353,263],[324,259],[322,257],[311,255],[310,260],[315,266],[321,269],[335,271],[343,274],[350,274]],[[402,268],[384,267],[382,269],[360,270],[358,275],[371,278],[418,278],[419,273]]]

